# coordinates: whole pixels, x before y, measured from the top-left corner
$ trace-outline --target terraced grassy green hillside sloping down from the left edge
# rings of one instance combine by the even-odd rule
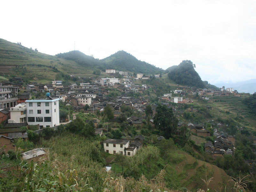
[[[76,61],[40,53],[4,39],[0,39],[0,58],[1,76],[20,76],[26,81],[47,83],[57,74],[61,78],[69,75],[94,76],[93,69]]]

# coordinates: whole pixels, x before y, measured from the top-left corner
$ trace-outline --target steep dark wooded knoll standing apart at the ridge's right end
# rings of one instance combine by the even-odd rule
[[[183,60],[180,65],[173,68],[170,73],[168,73],[168,77],[177,84],[195,86],[199,88],[206,87],[194,67],[195,65],[192,61]]]

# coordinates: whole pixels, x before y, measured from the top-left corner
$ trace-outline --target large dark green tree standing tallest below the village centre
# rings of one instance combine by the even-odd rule
[[[154,116],[154,124],[161,134],[166,139],[173,137],[177,130],[178,119],[173,114],[172,108],[167,108],[166,105],[158,105],[156,108],[156,115]]]

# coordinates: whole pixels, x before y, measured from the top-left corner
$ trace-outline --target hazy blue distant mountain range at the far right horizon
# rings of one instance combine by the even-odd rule
[[[235,83],[220,82],[215,84],[217,87],[225,86],[225,88],[234,88],[238,92],[251,93],[256,92],[256,79],[250,79],[247,81],[240,81]]]

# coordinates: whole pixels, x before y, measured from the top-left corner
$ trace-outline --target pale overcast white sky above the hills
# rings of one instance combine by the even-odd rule
[[[211,84],[255,79],[256,1],[2,1],[0,38],[50,55],[124,50],[166,69],[191,60]]]

